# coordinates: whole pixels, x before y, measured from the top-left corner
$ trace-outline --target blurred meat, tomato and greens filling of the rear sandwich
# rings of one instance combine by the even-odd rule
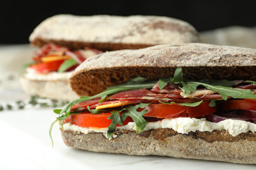
[[[30,75],[33,73],[46,75],[74,71],[85,59],[101,53],[103,51],[96,48],[85,47],[80,50],[71,50],[53,43],[45,44],[35,52],[33,63],[28,64],[27,72]]]

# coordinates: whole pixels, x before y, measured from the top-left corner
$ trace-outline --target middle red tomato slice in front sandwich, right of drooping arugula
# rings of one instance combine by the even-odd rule
[[[203,101],[197,107],[188,107],[179,104],[151,104],[140,110],[148,110],[144,116],[156,118],[190,117],[198,118],[216,112],[217,107],[210,107],[209,101]]]

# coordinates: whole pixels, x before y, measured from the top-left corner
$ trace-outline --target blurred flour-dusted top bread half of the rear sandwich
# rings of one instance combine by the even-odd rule
[[[30,42],[36,46],[53,42],[74,49],[120,50],[200,42],[200,37],[192,25],[165,16],[58,14],[35,27]]]

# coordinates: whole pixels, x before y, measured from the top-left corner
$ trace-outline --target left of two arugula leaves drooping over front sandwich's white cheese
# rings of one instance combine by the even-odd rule
[[[110,126],[108,126],[108,132],[107,137],[110,139],[114,131],[116,131],[116,126],[119,124],[119,126],[123,126],[123,121],[121,120],[120,112],[122,112],[125,109],[122,110],[114,110],[111,113],[111,116],[108,117],[108,119],[112,119],[112,122]]]

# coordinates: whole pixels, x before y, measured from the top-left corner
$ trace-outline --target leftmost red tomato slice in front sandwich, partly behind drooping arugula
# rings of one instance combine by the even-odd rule
[[[110,126],[112,122],[111,119],[108,119],[111,114],[112,113],[110,112],[100,114],[82,112],[79,114],[71,114],[68,116],[68,118],[65,119],[65,121],[80,127],[106,128]],[[133,122],[131,117],[127,117],[123,122],[123,125],[127,125],[129,122]],[[119,125],[117,124],[117,126]]]

